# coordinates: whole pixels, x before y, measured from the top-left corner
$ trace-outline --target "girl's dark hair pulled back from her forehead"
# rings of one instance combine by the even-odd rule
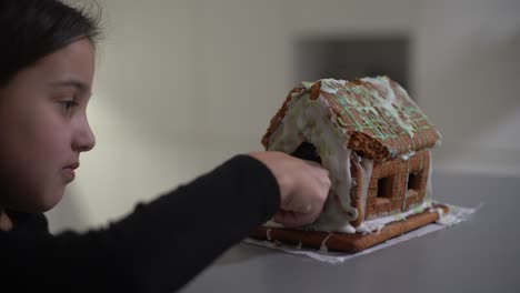
[[[93,46],[100,37],[98,17],[58,0],[0,0],[0,88],[23,68],[80,38]]]

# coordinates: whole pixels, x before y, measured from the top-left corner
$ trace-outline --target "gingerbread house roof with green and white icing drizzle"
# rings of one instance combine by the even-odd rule
[[[432,148],[441,138],[407,91],[388,77],[350,82],[321,79],[290,91],[262,138],[266,149],[292,99],[324,101],[328,119],[342,130],[347,146],[370,159],[393,159]]]

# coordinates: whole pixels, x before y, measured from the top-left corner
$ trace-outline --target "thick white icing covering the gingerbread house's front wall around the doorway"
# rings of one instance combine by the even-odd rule
[[[304,141],[312,143],[322,165],[329,170],[331,193],[320,218],[308,228],[353,233],[356,230],[349,222],[357,219],[358,211],[350,203],[351,150],[344,143],[346,133],[339,131],[338,125],[333,125],[336,121],[327,119],[328,109],[323,97],[310,100],[306,94],[292,100],[281,124],[271,135],[269,150],[291,153]]]

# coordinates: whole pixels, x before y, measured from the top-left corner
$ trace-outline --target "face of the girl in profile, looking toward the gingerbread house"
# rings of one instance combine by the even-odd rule
[[[0,208],[43,212],[94,146],[87,121],[94,52],[80,39],[40,59],[0,88]]]

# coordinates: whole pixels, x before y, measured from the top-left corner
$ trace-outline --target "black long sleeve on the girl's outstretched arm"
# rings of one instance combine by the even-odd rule
[[[238,155],[102,230],[0,233],[2,286],[172,292],[269,220],[279,201],[269,169]]]

